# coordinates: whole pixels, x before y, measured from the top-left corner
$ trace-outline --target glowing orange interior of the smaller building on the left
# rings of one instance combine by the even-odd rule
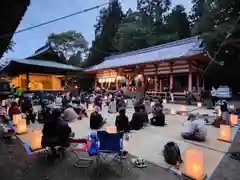
[[[29,88],[32,91],[61,91],[64,76],[48,74],[29,74]],[[21,90],[26,90],[26,74],[12,78],[11,83]]]

